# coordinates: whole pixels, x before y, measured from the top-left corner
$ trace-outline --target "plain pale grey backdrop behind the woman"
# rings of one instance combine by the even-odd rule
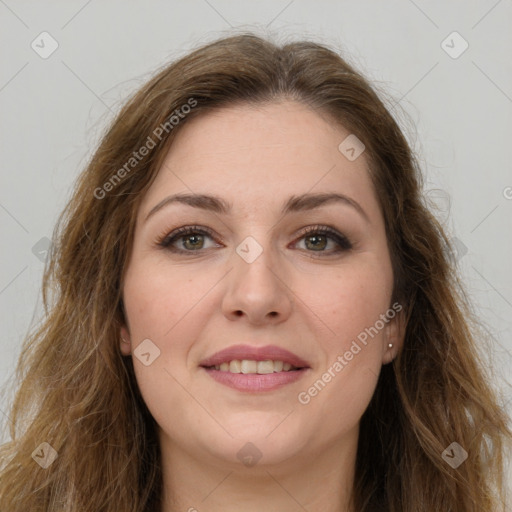
[[[510,0],[0,0],[0,385],[40,318],[57,215],[122,102],[199,44],[254,30],[330,45],[394,105],[510,408],[511,22]]]

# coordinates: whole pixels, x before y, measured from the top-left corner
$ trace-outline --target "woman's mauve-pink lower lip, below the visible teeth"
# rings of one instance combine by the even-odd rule
[[[217,382],[237,389],[238,391],[273,391],[286,384],[291,384],[301,379],[309,368],[288,372],[275,372],[267,374],[258,373],[231,373],[213,368],[204,368],[208,375]]]

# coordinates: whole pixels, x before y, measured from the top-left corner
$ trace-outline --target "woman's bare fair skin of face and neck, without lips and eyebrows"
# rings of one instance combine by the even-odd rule
[[[393,285],[365,155],[349,161],[338,150],[348,135],[290,101],[218,110],[178,132],[143,198],[120,334],[125,355],[151,340],[145,357],[154,360],[133,360],[159,425],[162,512],[350,511],[359,422],[403,328],[397,314],[345,357],[390,309]],[[174,202],[146,220],[155,205],[181,193],[215,195],[232,209]],[[359,208],[330,201],[281,213],[291,196],[317,193],[342,194]],[[183,226],[212,234],[158,245]],[[303,232],[325,226],[350,248],[331,234]],[[247,237],[256,244],[241,245]],[[254,261],[241,257],[258,247]],[[309,367],[298,380],[260,392],[228,387],[201,367],[241,343],[276,345]],[[336,371],[339,356],[346,364]],[[322,377],[329,368],[331,378]],[[308,392],[322,378],[325,385]]]

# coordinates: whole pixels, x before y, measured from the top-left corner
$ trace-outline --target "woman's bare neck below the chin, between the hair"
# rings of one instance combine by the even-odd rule
[[[323,452],[252,467],[183,451],[160,435],[161,512],[351,512],[357,430]]]

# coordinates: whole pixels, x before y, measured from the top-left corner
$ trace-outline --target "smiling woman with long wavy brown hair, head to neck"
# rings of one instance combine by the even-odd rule
[[[324,46],[162,70],[57,226],[2,510],[504,510],[511,431],[420,190]]]

